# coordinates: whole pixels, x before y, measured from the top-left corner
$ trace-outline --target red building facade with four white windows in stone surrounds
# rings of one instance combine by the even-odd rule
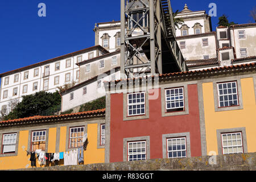
[[[141,92],[107,90],[106,162],[205,155],[200,86],[196,81],[179,79],[160,75],[154,89],[143,91],[140,83]]]

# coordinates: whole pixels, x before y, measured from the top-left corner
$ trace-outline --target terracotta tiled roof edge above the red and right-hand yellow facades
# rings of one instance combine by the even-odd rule
[[[199,75],[209,76],[209,73],[214,73],[214,75],[215,75],[216,73],[221,73],[221,72],[226,72],[226,71],[234,71],[234,70],[235,71],[243,71],[246,69],[255,69],[255,66],[256,66],[256,63],[239,64],[239,65],[232,65],[232,66],[228,66],[228,67],[217,67],[217,68],[209,68],[209,69],[202,69],[202,70],[195,70],[195,71],[166,73],[166,74],[160,74],[157,76],[159,78],[175,78],[175,77],[179,77],[179,76],[199,76]],[[155,77],[155,76],[148,76],[148,77]],[[111,83],[115,82],[115,84],[117,84],[120,81],[129,81],[129,80],[135,80],[135,79],[142,80],[142,78],[139,77],[139,78],[128,78],[128,79],[123,79],[123,80],[115,80],[115,81],[110,81],[110,82]],[[104,81],[104,84],[108,84],[108,82]]]

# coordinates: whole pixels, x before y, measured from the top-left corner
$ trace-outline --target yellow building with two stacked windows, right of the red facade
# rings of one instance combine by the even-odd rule
[[[255,64],[214,72],[201,84],[207,155],[256,152]]]

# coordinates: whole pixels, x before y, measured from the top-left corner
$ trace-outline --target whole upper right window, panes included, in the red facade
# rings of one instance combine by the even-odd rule
[[[184,110],[184,88],[166,89],[166,110]]]

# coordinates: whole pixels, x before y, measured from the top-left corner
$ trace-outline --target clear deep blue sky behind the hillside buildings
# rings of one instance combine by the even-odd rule
[[[38,16],[41,2],[46,4],[43,18]],[[212,2],[217,4],[213,31],[222,14],[235,23],[254,22],[255,1],[171,0],[173,10],[187,3],[190,10],[207,13]],[[120,0],[1,0],[0,73],[94,46],[94,24],[119,19]]]

